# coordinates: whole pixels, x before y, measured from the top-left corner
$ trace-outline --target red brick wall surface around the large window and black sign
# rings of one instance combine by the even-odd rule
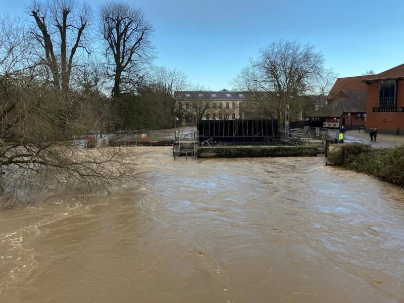
[[[395,134],[397,128],[400,128],[401,133],[404,133],[404,112],[373,113],[374,107],[379,107],[379,82],[368,84],[366,129],[376,127],[379,133]],[[394,107],[404,107],[404,80],[397,81],[397,105]]]

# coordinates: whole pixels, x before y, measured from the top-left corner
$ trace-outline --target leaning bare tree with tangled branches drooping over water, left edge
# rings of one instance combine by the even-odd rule
[[[40,73],[46,70],[25,59],[30,47],[24,37],[26,32],[18,22],[0,20],[2,208],[29,203],[24,199],[29,193],[47,186],[57,191],[70,188],[79,194],[114,185],[132,169],[121,150],[89,152],[80,144],[100,120],[92,106],[92,98],[98,96],[74,89],[55,90],[52,83],[42,81]]]

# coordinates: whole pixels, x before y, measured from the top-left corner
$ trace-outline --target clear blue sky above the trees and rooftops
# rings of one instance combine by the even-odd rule
[[[6,14],[29,3],[0,0]],[[98,1],[90,0],[94,10]],[[340,77],[404,63],[401,0],[128,0],[154,24],[156,64],[220,90],[261,47],[279,39],[311,43]]]

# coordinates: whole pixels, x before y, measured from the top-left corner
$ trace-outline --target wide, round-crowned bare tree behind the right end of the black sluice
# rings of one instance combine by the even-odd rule
[[[261,49],[258,59],[240,71],[233,85],[256,102],[258,115],[283,121],[291,98],[323,94],[334,77],[313,45],[279,40]]]

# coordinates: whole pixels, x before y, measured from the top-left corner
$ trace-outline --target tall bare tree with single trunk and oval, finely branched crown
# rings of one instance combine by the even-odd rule
[[[153,27],[139,8],[111,1],[100,6],[100,31],[107,43],[107,74],[112,96],[130,91],[144,79],[144,65],[153,57]]]

